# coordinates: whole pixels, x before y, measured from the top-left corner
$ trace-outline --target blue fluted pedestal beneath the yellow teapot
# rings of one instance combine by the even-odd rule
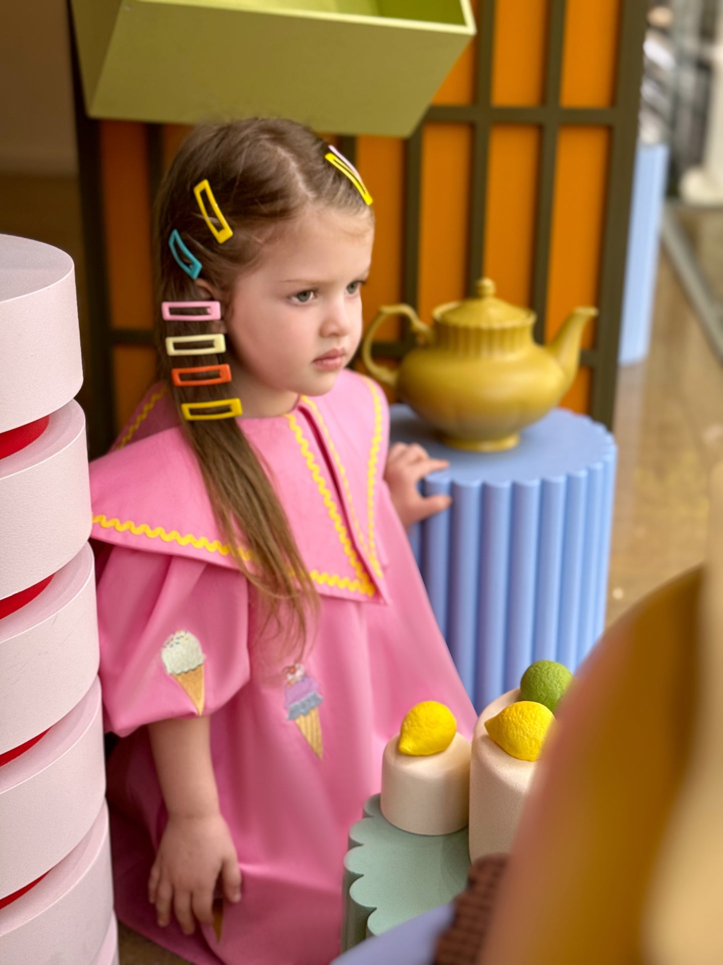
[[[414,528],[416,562],[478,711],[534,660],[572,671],[603,632],[616,447],[587,416],[555,409],[506,453],[442,445],[406,405],[391,441],[418,442],[448,470],[422,483],[453,503]]]

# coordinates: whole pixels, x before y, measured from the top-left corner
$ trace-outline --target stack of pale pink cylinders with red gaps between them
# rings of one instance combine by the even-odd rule
[[[75,275],[0,235],[0,962],[118,963]]]

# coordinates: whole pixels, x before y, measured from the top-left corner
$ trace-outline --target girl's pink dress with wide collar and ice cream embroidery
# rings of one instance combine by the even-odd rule
[[[120,920],[198,963],[322,965],[339,951],[350,825],[415,703],[476,715],[421,582],[383,471],[388,408],[342,372],[327,396],[245,419],[321,598],[304,664],[274,675],[254,592],[213,519],[194,455],[155,387],[91,466],[100,676]],[[253,564],[252,564],[253,565]],[[159,928],[147,877],[165,811],[151,721],[211,715],[221,807],[243,874],[221,937]]]

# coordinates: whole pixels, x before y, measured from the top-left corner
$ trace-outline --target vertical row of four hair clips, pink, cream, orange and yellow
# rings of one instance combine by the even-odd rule
[[[220,321],[221,303],[217,301],[163,302],[161,315],[166,321]],[[226,336],[221,333],[208,335],[170,335],[166,339],[168,355],[223,355],[226,351]],[[172,369],[171,378],[180,389],[195,388],[201,385],[223,385],[231,380],[231,369],[227,364],[192,366],[185,369]],[[209,412],[209,409],[221,411]],[[182,402],[181,412],[187,422],[208,421],[212,419],[232,419],[242,414],[240,399],[217,399],[209,402]]]

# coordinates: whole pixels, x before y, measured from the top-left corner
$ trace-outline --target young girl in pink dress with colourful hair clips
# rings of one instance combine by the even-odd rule
[[[404,530],[443,463],[387,458],[344,369],[370,203],[298,124],[197,129],[156,210],[161,381],[92,466],[117,908],[192,962],[335,957],[386,741],[420,701],[476,719]]]

